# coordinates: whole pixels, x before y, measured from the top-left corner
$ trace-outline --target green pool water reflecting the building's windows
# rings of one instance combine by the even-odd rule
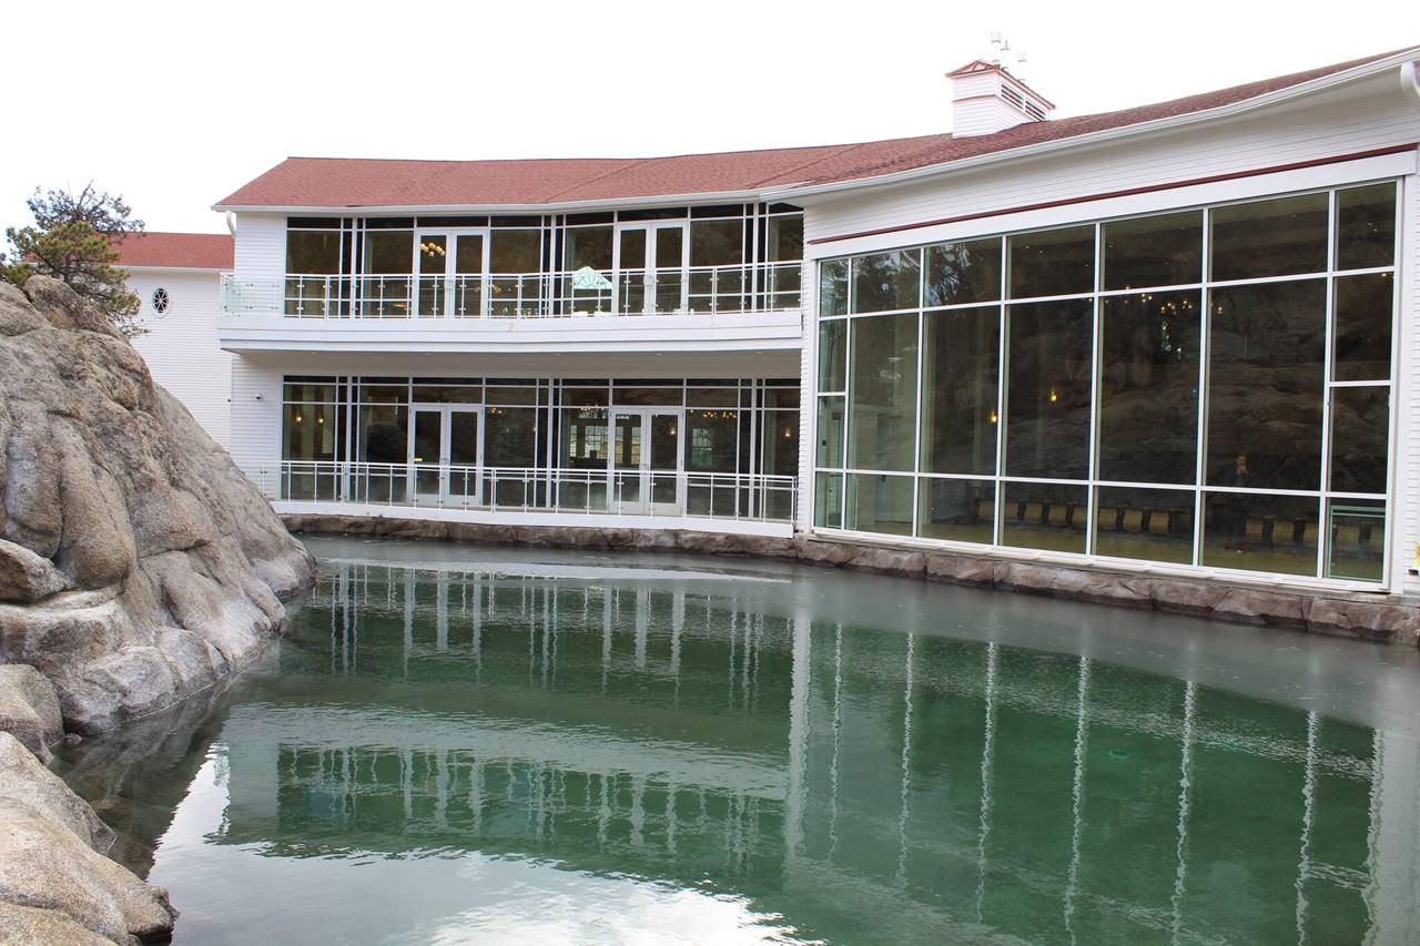
[[[179,943],[1404,943],[1420,663],[741,560],[311,543],[58,763]]]

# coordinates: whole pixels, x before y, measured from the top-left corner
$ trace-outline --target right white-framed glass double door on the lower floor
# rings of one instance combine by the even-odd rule
[[[684,509],[677,409],[612,408],[612,503],[619,513],[679,516]]]

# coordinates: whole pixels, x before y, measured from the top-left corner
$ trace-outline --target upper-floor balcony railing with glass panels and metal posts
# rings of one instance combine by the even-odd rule
[[[471,276],[288,273],[284,278],[222,278],[226,315],[290,318],[565,318],[768,312],[799,307],[802,264],[692,266],[598,273],[604,288],[578,288],[578,274]],[[582,280],[585,283],[586,280]]]

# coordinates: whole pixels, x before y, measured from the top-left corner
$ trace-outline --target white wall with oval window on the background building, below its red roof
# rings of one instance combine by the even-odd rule
[[[142,300],[146,335],[133,339],[153,381],[186,405],[213,440],[227,446],[231,355],[217,345],[219,274],[203,270],[129,270],[128,287]],[[153,291],[168,291],[168,311],[153,310]]]

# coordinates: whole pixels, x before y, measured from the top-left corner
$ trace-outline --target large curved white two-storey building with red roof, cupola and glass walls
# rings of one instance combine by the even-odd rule
[[[856,145],[291,158],[216,206],[230,449],[284,511],[1420,591],[1417,58],[1058,121],[973,62],[956,135]]]

